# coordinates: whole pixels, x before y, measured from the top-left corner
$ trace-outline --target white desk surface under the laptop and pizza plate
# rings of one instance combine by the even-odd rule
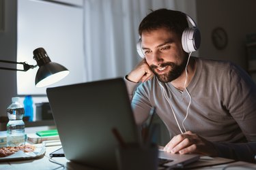
[[[49,154],[58,148],[61,148],[61,146],[47,146],[46,147],[46,154],[42,156],[41,158],[36,159],[29,159],[29,160],[17,160],[17,161],[10,161],[5,163],[0,163],[0,169],[37,169],[37,170],[60,170],[63,169],[60,165],[57,165],[55,163],[51,163],[48,158]],[[72,169],[72,170],[99,170],[96,168],[86,167],[85,165],[79,165],[76,163],[71,163],[69,160],[67,160],[64,157],[59,158],[53,158],[58,163],[61,163],[65,165],[65,169]],[[212,167],[201,167],[197,169],[203,169],[203,170],[250,170],[250,169],[256,169],[256,164],[251,163],[244,163],[244,162],[236,162],[236,163],[229,163],[225,165],[215,165]]]

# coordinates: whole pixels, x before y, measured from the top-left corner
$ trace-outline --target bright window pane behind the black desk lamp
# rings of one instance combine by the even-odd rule
[[[18,62],[36,65],[33,50],[42,47],[51,61],[70,70],[66,78],[52,86],[85,82],[83,0],[19,0],[17,36]],[[37,71],[38,67],[17,71],[18,95],[46,95],[47,87],[35,87]]]

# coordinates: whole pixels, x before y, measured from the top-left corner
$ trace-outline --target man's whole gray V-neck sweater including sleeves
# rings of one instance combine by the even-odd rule
[[[187,87],[192,99],[186,120],[190,102],[186,90],[158,82],[156,76],[139,86],[125,79],[137,124],[155,106],[171,137],[186,129],[214,142],[219,156],[252,162],[256,154],[255,83],[230,62],[193,59],[197,70]]]

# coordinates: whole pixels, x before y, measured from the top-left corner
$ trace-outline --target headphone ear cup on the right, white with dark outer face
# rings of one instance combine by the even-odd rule
[[[182,48],[185,52],[195,52],[201,43],[201,35],[196,27],[186,28],[182,33]]]

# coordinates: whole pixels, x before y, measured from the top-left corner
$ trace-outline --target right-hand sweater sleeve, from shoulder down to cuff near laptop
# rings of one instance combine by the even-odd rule
[[[253,80],[240,67],[231,65],[229,88],[226,88],[223,102],[236,120],[247,142],[214,143],[218,156],[255,163],[256,156],[256,86]]]

